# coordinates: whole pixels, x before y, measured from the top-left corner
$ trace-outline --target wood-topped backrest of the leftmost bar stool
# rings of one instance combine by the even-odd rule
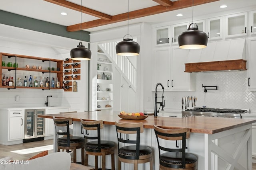
[[[54,125],[55,125],[57,141],[61,137],[67,137],[67,147],[70,147],[70,129],[69,129],[69,126],[72,125],[71,117],[58,118],[58,117],[54,116],[53,121],[54,121]]]

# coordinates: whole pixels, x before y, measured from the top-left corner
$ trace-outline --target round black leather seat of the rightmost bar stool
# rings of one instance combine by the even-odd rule
[[[186,153],[185,155],[186,164],[192,164],[197,161],[197,158],[194,154]],[[165,152],[161,154],[160,164],[166,167],[175,168],[177,164],[181,164],[181,152]]]

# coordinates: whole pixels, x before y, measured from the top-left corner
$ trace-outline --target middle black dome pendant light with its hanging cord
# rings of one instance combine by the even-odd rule
[[[116,54],[124,56],[134,56],[140,54],[140,45],[133,41],[133,39],[128,38],[129,34],[129,0],[128,0],[128,25],[127,25],[127,38],[123,37],[123,41],[116,44]],[[132,35],[130,35],[132,37]]]

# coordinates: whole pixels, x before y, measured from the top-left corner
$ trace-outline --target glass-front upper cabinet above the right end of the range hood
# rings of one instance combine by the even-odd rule
[[[248,13],[240,13],[226,16],[225,38],[244,37],[248,33]]]

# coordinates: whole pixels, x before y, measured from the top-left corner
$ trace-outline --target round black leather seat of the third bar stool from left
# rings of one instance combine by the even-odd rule
[[[139,153],[140,156],[151,154],[151,152],[152,152],[152,149],[150,147],[140,145],[140,153]],[[136,156],[136,145],[121,147],[119,149],[119,156],[121,157],[121,155]]]

